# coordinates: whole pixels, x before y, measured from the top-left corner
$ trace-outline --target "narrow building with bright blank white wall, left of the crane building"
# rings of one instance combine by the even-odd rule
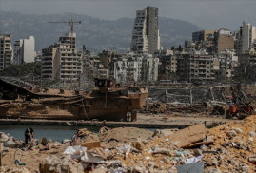
[[[34,62],[35,58],[35,40],[33,36],[27,39],[20,39],[14,43],[13,64],[21,65],[23,63]]]

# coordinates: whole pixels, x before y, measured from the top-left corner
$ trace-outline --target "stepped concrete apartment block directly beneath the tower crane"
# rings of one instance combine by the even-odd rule
[[[42,49],[42,76],[77,80],[82,71],[82,53],[75,46],[76,34],[67,33],[59,42]]]

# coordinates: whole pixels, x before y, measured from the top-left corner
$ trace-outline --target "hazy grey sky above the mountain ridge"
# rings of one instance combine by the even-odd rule
[[[134,18],[136,10],[159,8],[159,16],[194,23],[202,29],[256,25],[256,0],[0,0],[1,11],[30,14],[73,12],[101,19]]]

